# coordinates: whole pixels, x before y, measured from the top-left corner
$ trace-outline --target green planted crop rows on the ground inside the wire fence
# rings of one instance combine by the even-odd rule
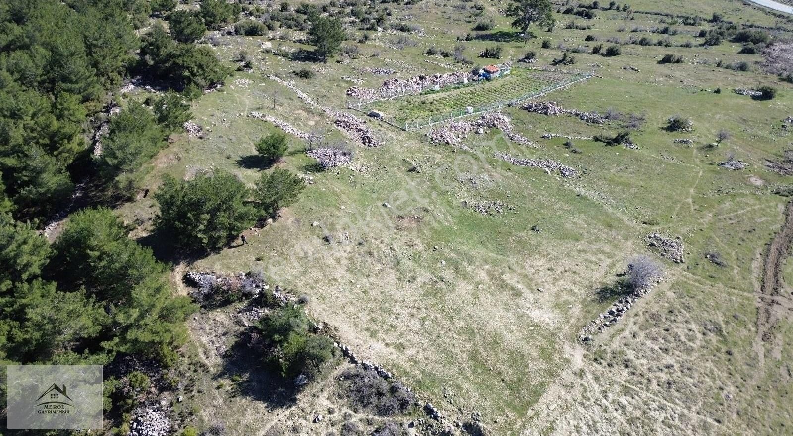
[[[365,108],[377,109],[387,119],[393,117],[397,124],[423,122],[447,113],[464,111],[468,106],[476,110],[482,106],[515,100],[574,77],[568,73],[515,67],[511,75],[489,82],[473,82],[439,91],[375,101]]]

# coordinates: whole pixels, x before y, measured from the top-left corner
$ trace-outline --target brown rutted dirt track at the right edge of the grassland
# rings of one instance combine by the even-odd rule
[[[784,292],[782,278],[784,262],[793,243],[793,201],[787,202],[784,214],[784,224],[765,253],[760,295],[757,296],[757,337],[753,349],[760,366],[764,365],[766,344],[771,346],[772,356],[781,356],[782,338],[773,330],[779,319],[789,316],[786,312],[793,310],[791,293]]]

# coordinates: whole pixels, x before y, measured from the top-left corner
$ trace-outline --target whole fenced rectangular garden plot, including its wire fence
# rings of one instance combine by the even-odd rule
[[[519,103],[590,77],[588,73],[515,68],[511,75],[488,82],[448,86],[437,91],[349,104],[349,107],[363,113],[375,110],[381,113],[381,120],[397,128],[415,130]]]

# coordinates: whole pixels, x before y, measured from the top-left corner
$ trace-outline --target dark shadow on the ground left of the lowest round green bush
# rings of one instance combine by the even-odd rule
[[[250,329],[249,329],[250,330]],[[249,330],[243,331],[234,345],[224,353],[223,366],[215,378],[240,377],[229,396],[250,398],[266,404],[273,411],[297,403],[300,388],[262,361],[263,354],[252,350],[247,341]]]

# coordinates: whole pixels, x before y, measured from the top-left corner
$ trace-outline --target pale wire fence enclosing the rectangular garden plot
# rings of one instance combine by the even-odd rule
[[[427,127],[427,126],[432,125],[432,124],[442,123],[442,122],[447,121],[447,120],[454,120],[455,118],[468,117],[469,115],[474,115],[474,114],[477,114],[477,113],[485,113],[485,112],[491,111],[493,109],[498,109],[498,108],[501,108],[501,107],[504,107],[504,106],[508,106],[508,105],[516,105],[516,104],[518,104],[518,103],[520,103],[522,101],[526,101],[526,100],[528,100],[530,98],[539,97],[542,94],[548,94],[551,91],[559,90],[561,88],[564,88],[565,86],[573,85],[573,83],[581,82],[581,81],[586,80],[588,78],[592,78],[592,76],[594,76],[594,73],[581,73],[581,74],[578,74],[578,75],[574,75],[574,76],[572,76],[570,78],[567,78],[567,79],[565,79],[565,80],[563,80],[561,82],[556,82],[554,84],[546,86],[546,87],[544,87],[542,89],[534,90],[534,91],[532,91],[529,94],[523,94],[523,95],[521,95],[518,98],[512,98],[510,100],[505,100],[505,101],[497,101],[496,103],[492,103],[490,105],[481,105],[481,106],[475,106],[475,107],[474,106],[469,106],[466,109],[460,109],[460,110],[454,110],[454,111],[450,111],[450,112],[446,112],[446,113],[441,113],[439,115],[436,115],[435,117],[423,118],[421,120],[416,120],[416,121],[412,121],[412,122],[411,121],[407,121],[407,120],[400,122],[396,118],[394,118],[393,116],[386,115],[386,114],[381,114],[379,119],[381,121],[385,122],[386,124],[390,124],[393,127],[400,128],[400,129],[402,129],[404,131],[408,131],[409,132],[409,131],[416,130],[416,129],[419,129],[419,128]],[[354,102],[351,102],[351,101],[347,101],[347,107],[350,108],[350,109],[355,109],[358,112],[370,114],[370,113],[372,113],[372,110],[373,110],[373,108],[371,106],[372,103],[374,103],[376,101],[390,100],[392,98],[397,98],[397,97],[400,97],[400,96],[406,95],[406,94],[416,94],[416,93],[405,93],[405,94],[400,94],[400,95],[393,95],[393,96],[389,96],[388,98],[378,98],[378,99],[370,100],[370,101],[366,101],[366,102],[355,102],[354,103]]]

